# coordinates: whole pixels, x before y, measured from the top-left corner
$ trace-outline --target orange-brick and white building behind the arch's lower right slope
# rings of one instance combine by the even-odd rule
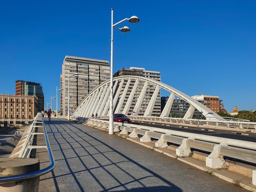
[[[220,112],[221,105],[222,105],[222,100],[219,99],[219,96],[211,96],[211,95],[195,95],[191,96],[195,100],[199,101],[200,103],[204,104],[206,107],[211,109],[213,112]]]

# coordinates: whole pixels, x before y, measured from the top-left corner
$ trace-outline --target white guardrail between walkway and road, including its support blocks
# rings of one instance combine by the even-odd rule
[[[108,129],[108,121],[106,120],[80,117],[72,117],[71,119],[92,127]],[[155,120],[155,117],[153,120]],[[223,156],[256,164],[256,143],[254,142],[129,123],[114,122],[114,128],[114,132],[128,134],[129,137],[138,137],[140,135],[141,142],[149,142],[152,138],[157,139],[155,147],[167,147],[167,142],[176,144],[179,146],[176,149],[177,156],[190,156],[191,149],[210,152],[206,158],[206,166],[213,169],[221,168],[225,164]],[[256,170],[253,170],[252,183],[256,185]]]

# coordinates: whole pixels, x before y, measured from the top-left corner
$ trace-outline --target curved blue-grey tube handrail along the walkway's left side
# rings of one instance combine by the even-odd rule
[[[38,113],[37,115],[41,116],[40,113]],[[42,118],[42,122],[43,122],[43,118]],[[30,172],[30,173],[0,177],[0,183],[8,183],[8,182],[12,182],[12,181],[22,181],[22,180],[26,180],[26,179],[31,179],[31,178],[34,178],[34,177],[38,177],[38,176],[47,174],[48,172],[50,172],[54,169],[55,161],[54,161],[54,157],[53,157],[53,154],[52,154],[51,146],[49,144],[49,139],[48,139],[48,136],[47,136],[47,132],[46,132],[46,129],[45,129],[45,123],[44,122],[43,122],[43,130],[44,130],[46,148],[47,148],[48,155],[49,155],[50,165],[48,167],[43,168],[42,170],[38,170],[38,171]]]

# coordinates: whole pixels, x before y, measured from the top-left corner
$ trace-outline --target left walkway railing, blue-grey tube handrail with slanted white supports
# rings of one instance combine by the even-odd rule
[[[35,133],[34,131],[35,131],[36,127],[42,127],[43,133]],[[34,138],[34,135],[36,135],[36,134],[44,134],[46,146],[31,145],[31,141]],[[24,132],[22,137],[25,139],[25,142],[22,145],[20,145],[20,146],[22,146],[22,148],[18,152],[11,154],[10,158],[16,157],[17,155],[20,158],[29,158],[29,155],[30,155],[30,152],[32,149],[46,148],[48,151],[48,155],[49,155],[50,165],[48,167],[43,168],[42,170],[38,170],[38,171],[26,173],[26,174],[0,177],[0,183],[7,183],[7,182],[12,182],[12,181],[22,181],[22,180],[27,180],[27,179],[31,179],[34,177],[38,177],[38,176],[47,174],[48,172],[53,170],[55,167],[55,161],[54,161],[54,157],[52,155],[51,146],[49,144],[49,139],[48,139],[47,132],[45,129],[45,124],[43,122],[42,115],[40,113],[38,113],[36,115],[33,123],[27,128],[27,130]],[[20,141],[21,141],[21,139],[20,139]]]

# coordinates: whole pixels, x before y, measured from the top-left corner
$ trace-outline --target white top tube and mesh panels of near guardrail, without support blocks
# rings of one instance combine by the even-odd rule
[[[85,120],[85,119],[84,119]],[[105,127],[108,127],[108,121],[100,119],[86,119],[86,124],[90,126],[99,126],[104,123]],[[80,119],[81,121],[81,119]],[[164,141],[181,145],[185,142],[187,147],[193,149],[202,150],[206,152],[213,152],[216,145],[225,142],[227,145],[218,148],[218,153],[231,157],[234,159],[239,159],[242,161],[255,163],[256,164],[256,143],[250,141],[242,141],[231,138],[223,138],[202,134],[194,134],[190,132],[174,131],[170,129],[162,129],[157,127],[148,127],[143,125],[134,125],[129,123],[117,123],[114,122],[115,126],[119,126],[119,130],[127,133],[135,133],[149,138],[160,139],[163,138]],[[185,139],[185,140],[184,140]],[[248,155],[249,154],[249,155]]]

